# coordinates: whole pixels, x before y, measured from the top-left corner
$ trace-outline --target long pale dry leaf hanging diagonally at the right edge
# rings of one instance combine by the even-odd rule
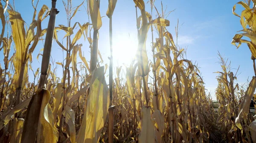
[[[249,111],[250,108],[250,102],[253,97],[253,93],[256,88],[256,77],[253,76],[253,79],[250,81],[249,87],[247,88],[245,95],[244,95],[244,100],[241,102],[240,107],[239,107],[239,114],[238,117],[236,118],[236,126],[239,129],[243,129],[241,126],[241,116],[244,115],[245,118],[247,118],[247,112]]]

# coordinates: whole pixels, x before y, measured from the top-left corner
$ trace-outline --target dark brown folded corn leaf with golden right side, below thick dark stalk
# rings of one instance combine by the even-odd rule
[[[56,142],[57,129],[54,127],[52,109],[49,106],[50,93],[48,90],[38,90],[32,96],[26,110],[26,118],[23,125],[21,143]],[[37,136],[38,132],[38,136]],[[48,142],[47,142],[48,143]]]

